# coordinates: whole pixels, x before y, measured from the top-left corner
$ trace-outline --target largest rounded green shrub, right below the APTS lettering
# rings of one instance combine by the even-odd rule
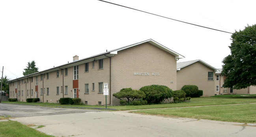
[[[140,91],[146,94],[143,99],[147,100],[148,104],[160,104],[173,95],[173,91],[164,85],[148,85],[140,88]]]

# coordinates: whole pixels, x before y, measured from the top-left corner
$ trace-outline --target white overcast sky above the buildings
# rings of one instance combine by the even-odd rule
[[[232,33],[256,24],[256,0],[106,1]],[[147,39],[185,56],[178,62],[221,68],[230,37],[98,0],[0,0],[0,67],[9,79],[28,61],[42,71]]]

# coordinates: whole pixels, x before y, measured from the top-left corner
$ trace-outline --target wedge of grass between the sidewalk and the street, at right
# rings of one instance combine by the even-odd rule
[[[256,123],[256,104],[140,110],[133,113]]]

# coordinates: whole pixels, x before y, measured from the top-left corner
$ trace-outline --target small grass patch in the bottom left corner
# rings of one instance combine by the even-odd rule
[[[0,122],[0,137],[54,137],[16,121]]]

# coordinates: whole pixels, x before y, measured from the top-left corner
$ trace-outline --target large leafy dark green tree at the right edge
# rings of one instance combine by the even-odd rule
[[[256,38],[252,37],[256,37],[256,24],[232,34],[231,54],[222,61],[222,75],[227,76],[224,87],[243,89],[256,85]]]

